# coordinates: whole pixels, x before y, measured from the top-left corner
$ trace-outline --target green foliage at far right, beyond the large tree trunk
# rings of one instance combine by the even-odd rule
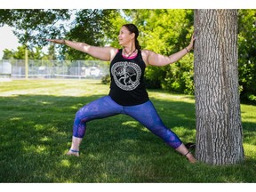
[[[241,99],[256,103],[256,10],[239,10],[239,84]]]

